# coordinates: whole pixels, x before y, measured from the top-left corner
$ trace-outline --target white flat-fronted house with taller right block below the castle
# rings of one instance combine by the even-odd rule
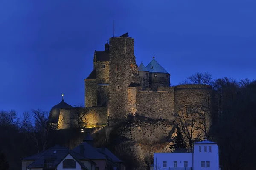
[[[204,140],[194,143],[193,152],[154,153],[154,170],[221,170],[218,145]]]

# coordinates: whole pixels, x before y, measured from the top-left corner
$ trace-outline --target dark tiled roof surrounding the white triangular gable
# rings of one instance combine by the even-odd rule
[[[79,161],[70,150],[68,150],[66,147],[60,147],[60,146],[52,147],[52,148],[44,151],[43,153],[41,153],[41,156],[39,158],[35,159],[35,161],[32,162],[32,164],[30,164],[28,166],[28,168],[43,168],[45,160],[54,161],[53,167],[56,168],[58,166],[58,164],[60,164],[61,161],[63,161],[63,159],[68,154],[70,154],[73,157],[73,159],[75,159],[76,162],[79,163],[79,165],[82,167],[82,169],[88,170],[87,167],[85,167],[84,164],[82,164],[81,161]],[[25,158],[23,160],[28,160],[28,159]]]

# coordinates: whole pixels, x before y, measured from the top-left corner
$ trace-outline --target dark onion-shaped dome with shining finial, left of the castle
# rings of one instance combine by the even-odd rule
[[[64,102],[63,96],[64,94],[62,94],[62,101],[59,104],[52,107],[49,113],[49,123],[58,123],[61,108],[72,108],[71,105]]]

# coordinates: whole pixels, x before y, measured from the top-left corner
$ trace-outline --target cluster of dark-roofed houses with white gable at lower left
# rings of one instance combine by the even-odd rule
[[[88,134],[73,150],[55,146],[21,160],[22,170],[125,170],[123,161],[107,148],[94,148]]]

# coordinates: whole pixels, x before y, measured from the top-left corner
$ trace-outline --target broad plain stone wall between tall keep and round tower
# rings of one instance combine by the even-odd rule
[[[160,88],[162,91],[137,91],[136,114],[151,119],[174,121],[174,88]]]

